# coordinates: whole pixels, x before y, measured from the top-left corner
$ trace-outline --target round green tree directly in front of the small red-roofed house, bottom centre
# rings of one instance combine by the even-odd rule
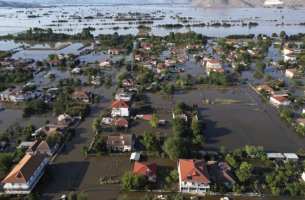
[[[122,177],[122,188],[125,190],[140,190],[144,189],[147,184],[146,177],[132,172],[125,172]]]

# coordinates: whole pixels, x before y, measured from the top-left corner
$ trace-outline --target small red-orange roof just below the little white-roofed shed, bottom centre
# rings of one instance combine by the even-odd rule
[[[157,165],[151,162],[135,162],[133,166],[133,173],[142,176],[157,177]]]

